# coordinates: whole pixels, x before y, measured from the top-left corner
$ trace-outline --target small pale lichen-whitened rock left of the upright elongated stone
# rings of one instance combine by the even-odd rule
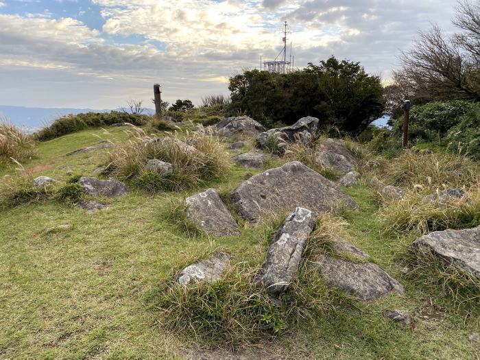
[[[230,265],[230,255],[226,252],[214,252],[211,259],[198,261],[185,267],[177,276],[180,285],[219,280]]]

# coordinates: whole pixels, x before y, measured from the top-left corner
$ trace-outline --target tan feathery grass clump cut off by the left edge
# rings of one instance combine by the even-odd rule
[[[35,154],[32,136],[0,118],[0,163],[27,160]]]

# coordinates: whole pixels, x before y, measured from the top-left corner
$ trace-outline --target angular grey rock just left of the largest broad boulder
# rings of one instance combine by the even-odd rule
[[[217,236],[240,235],[235,222],[215,189],[187,197],[187,217],[198,228]]]

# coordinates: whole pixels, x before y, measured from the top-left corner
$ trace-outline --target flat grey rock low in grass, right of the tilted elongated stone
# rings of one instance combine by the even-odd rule
[[[322,254],[313,265],[328,285],[361,300],[375,300],[392,291],[404,293],[403,286],[374,263],[352,263]]]

